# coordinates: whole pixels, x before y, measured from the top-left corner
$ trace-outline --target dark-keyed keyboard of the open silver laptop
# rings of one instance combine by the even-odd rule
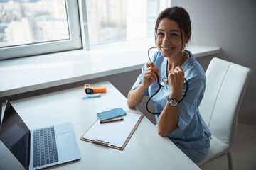
[[[54,127],[34,130],[33,167],[58,162]]]

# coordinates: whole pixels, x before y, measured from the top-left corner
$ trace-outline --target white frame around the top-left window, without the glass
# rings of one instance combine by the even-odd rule
[[[70,39],[0,47],[0,60],[82,49],[78,1],[65,0]]]

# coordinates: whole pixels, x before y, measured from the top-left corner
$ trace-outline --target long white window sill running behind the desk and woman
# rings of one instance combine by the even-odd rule
[[[36,57],[0,61],[0,97],[46,89],[87,79],[141,69],[154,39],[119,42]],[[220,47],[189,46],[194,57],[220,52]]]

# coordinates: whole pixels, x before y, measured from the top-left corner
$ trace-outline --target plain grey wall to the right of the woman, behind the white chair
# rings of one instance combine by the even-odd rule
[[[256,125],[256,1],[171,0],[191,16],[192,45],[221,47],[218,56],[252,69],[238,117],[240,123]],[[207,68],[210,57],[198,59]]]

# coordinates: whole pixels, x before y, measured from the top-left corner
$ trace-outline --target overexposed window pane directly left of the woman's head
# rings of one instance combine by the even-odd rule
[[[154,36],[160,3],[163,1],[86,0],[90,45]]]

